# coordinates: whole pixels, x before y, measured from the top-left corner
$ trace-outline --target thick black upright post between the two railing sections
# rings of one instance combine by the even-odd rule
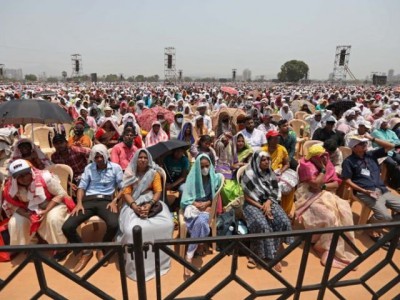
[[[133,233],[133,252],[135,254],[138,298],[139,300],[147,300],[146,278],[144,275],[145,272],[144,272],[144,258],[143,258],[142,227],[136,225],[135,227],[133,227],[132,233]]]

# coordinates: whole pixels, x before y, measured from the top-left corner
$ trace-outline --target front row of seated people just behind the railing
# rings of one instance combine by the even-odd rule
[[[228,138],[226,135],[223,135],[223,137]],[[282,197],[279,187],[280,175],[289,169],[288,157],[283,149],[277,151],[281,148],[276,143],[277,137],[275,132],[270,132],[267,135],[268,147],[254,153],[243,135],[239,133],[233,137],[234,144],[231,148],[231,157],[227,154],[227,159],[232,159],[231,171],[248,163],[241,184],[232,177],[232,174],[226,172],[227,168],[224,169],[226,166],[222,165],[223,159],[214,168],[211,157],[213,151],[210,151],[209,156],[208,153],[204,153],[207,152],[204,151],[206,149],[203,149],[207,145],[199,145],[200,151],[187,177],[184,178],[185,176],[182,175],[185,172],[182,172],[180,177],[175,176],[178,179],[185,179],[180,182],[185,181],[187,188],[183,190],[179,197],[179,206],[184,211],[190,236],[203,237],[210,232],[208,226],[209,212],[215,192],[222,182],[215,170],[222,173],[227,179],[221,192],[224,204],[244,193],[243,212],[251,233],[291,230],[290,219],[280,205]],[[360,137],[354,137],[353,140],[353,155],[343,163],[342,178],[354,191],[360,193],[359,198],[372,208],[374,218],[377,221],[391,220],[392,217],[385,212],[386,207],[384,210],[382,209],[382,205],[386,204],[398,213],[399,198],[387,192],[382,185],[376,162],[378,156],[386,155],[385,148],[366,153],[366,141]],[[62,153],[62,156],[65,155],[65,159],[69,160],[70,163],[78,159],[78,156],[74,157],[74,152],[71,152],[73,148],[68,147],[65,137],[56,136],[53,142],[57,149],[53,158],[57,158],[57,155]],[[223,156],[221,154],[225,150],[229,150],[226,149],[229,142],[229,140],[226,141],[223,138],[216,141],[215,148],[220,159]],[[377,139],[374,142],[381,143]],[[386,149],[391,147],[387,144],[384,146]],[[353,224],[350,206],[348,204],[346,206],[347,202],[343,202],[331,192],[337,188],[340,178],[327,159],[329,155],[322,147],[318,147],[318,145],[313,147],[310,148],[309,155],[300,160],[298,168],[300,185],[295,192],[297,198],[295,203],[296,216],[302,219],[306,228]],[[46,171],[38,171],[30,165],[27,167],[23,160],[16,160],[10,165],[12,177],[6,183],[3,196],[6,204],[4,207],[9,215],[12,215],[10,233],[13,244],[29,243],[31,231],[33,232],[35,229],[49,243],[65,243],[67,239],[70,242],[80,242],[81,239],[76,229],[93,215],[100,216],[107,224],[104,241],[111,241],[119,228],[121,233],[117,236],[117,240],[130,242],[132,240],[131,229],[136,224],[145,228],[145,238],[147,238],[147,233],[149,239],[172,236],[173,223],[169,209],[164,203],[158,202],[162,195],[161,178],[157,172],[159,166],[152,162],[151,155],[146,149],[140,149],[135,153],[125,170],[125,174],[118,164],[108,160],[108,151],[103,145],[94,146],[90,151],[90,156],[92,163],[88,166],[85,165],[86,167],[84,167],[79,178],[79,185],[75,187],[77,189],[75,207],[68,201],[68,197],[65,197],[65,191],[60,189],[59,185],[57,186],[57,180]],[[179,170],[173,170],[173,167],[177,165],[176,162],[184,157],[182,150],[175,151],[171,157],[170,166],[172,167],[170,169],[166,167],[166,171],[174,171],[179,174]],[[360,167],[362,163],[365,164],[364,168]],[[187,163],[182,164],[182,166],[180,170],[186,169],[188,171]],[[278,169],[279,171],[275,172]],[[369,174],[367,174],[367,171]],[[378,173],[377,176],[374,175],[376,172]],[[170,182],[169,184],[173,185],[173,183]],[[116,206],[118,197],[112,196],[116,187],[121,189],[122,198],[125,200],[125,205],[120,212],[118,212]],[[174,187],[179,187],[179,184]],[[232,191],[234,192],[232,193]],[[310,200],[311,196],[313,196],[312,201]],[[375,199],[374,203],[368,203],[368,200],[371,199]],[[50,201],[46,202],[46,200]],[[329,203],[334,203],[334,201],[337,202],[336,211],[328,206]],[[19,206],[18,202],[23,202],[23,205]],[[65,205],[62,203],[65,203]],[[156,205],[156,203],[158,204]],[[340,206],[341,209],[338,209]],[[325,208],[325,212],[321,210],[321,207]],[[31,212],[35,213],[32,214]],[[154,214],[154,216],[149,217],[149,214]],[[25,219],[16,221],[16,218],[21,216]],[[50,219],[47,220],[48,218]],[[54,221],[52,218],[56,220]],[[254,242],[251,247],[261,257],[273,259],[281,242],[267,239]],[[284,242],[290,243],[291,240],[288,239]],[[320,237],[319,242],[316,241],[315,245],[318,252],[321,253],[321,261],[324,263],[329,249],[329,238]],[[192,260],[196,250],[196,245],[190,245],[186,259]],[[65,254],[57,253],[56,258],[63,257]],[[81,271],[86,266],[93,253],[83,251],[80,255],[81,259],[75,267],[75,272]],[[103,255],[104,253],[97,252],[99,259]],[[335,266],[342,267],[351,261],[349,255],[343,247],[338,247]],[[151,261],[149,257],[147,263],[151,264]],[[162,269],[166,272],[169,268],[169,260],[165,257],[162,261],[165,263]],[[251,260],[249,260],[248,265],[249,267],[255,266]],[[277,265],[276,268],[280,270],[281,266]],[[149,272],[146,273],[147,278],[154,276],[154,268],[149,266],[146,270]],[[188,271],[186,270],[186,272]],[[135,278],[134,265],[128,256],[127,274],[131,278]]]

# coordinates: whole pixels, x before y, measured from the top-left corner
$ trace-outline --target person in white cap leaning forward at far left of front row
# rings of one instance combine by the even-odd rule
[[[11,177],[3,190],[3,209],[10,221],[11,245],[28,245],[37,232],[49,244],[67,242],[61,227],[74,204],[57,176],[17,159],[9,166]],[[65,256],[63,256],[65,257]]]

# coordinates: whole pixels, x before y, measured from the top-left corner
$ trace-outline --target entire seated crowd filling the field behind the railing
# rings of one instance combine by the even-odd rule
[[[106,223],[104,242],[131,243],[135,225],[143,228],[144,241],[172,238],[179,211],[190,237],[206,237],[213,201],[220,201],[218,213],[235,203],[249,233],[291,231],[295,219],[310,229],[348,226],[353,215],[338,194],[343,184],[372,210],[370,222],[400,219],[399,89],[231,85],[236,91],[211,84],[0,86],[0,102],[40,98],[74,120],[46,124],[54,127],[53,151],[46,154],[21,124],[0,129],[0,167],[7,170],[2,214],[9,218],[10,244],[29,244],[36,233],[51,244],[81,243],[78,229],[93,216]],[[187,146],[153,159],[149,148],[169,140]],[[306,140],[318,143],[305,149]],[[345,159],[343,147],[351,150]],[[52,164],[72,168],[69,193],[49,172]],[[382,236],[369,234],[375,241]],[[325,264],[331,236],[313,239]],[[290,243],[265,239],[250,247],[269,261]],[[205,245],[190,244],[185,259],[206,252]],[[104,265],[105,254],[96,252]],[[54,259],[67,255],[57,252]],[[78,273],[93,251],[74,255]],[[340,240],[333,266],[343,268],[353,259]],[[160,261],[164,274],[170,259],[161,254]],[[256,265],[248,260],[249,268]],[[153,278],[151,252],[145,266],[146,279]],[[130,255],[126,271],[136,279]]]

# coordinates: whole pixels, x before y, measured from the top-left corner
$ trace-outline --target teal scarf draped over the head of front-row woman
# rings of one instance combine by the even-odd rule
[[[201,174],[202,159],[207,159],[210,162],[209,176],[211,183],[212,199],[215,196],[215,192],[221,185],[221,178],[217,173],[215,173],[215,169],[213,164],[211,163],[210,157],[204,153],[198,155],[186,178],[185,189],[183,191],[181,200],[181,207],[183,209],[186,206],[191,205],[197,199],[201,199],[206,196],[203,187],[203,176]]]

